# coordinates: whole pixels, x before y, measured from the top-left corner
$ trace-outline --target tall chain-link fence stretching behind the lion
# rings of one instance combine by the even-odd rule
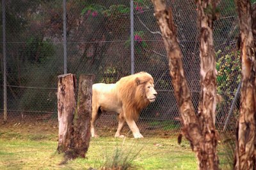
[[[9,122],[58,122],[57,76],[63,74],[63,1],[6,0],[6,66]],[[195,2],[168,1],[178,28],[184,68],[193,104],[200,93],[200,58]],[[95,82],[115,83],[131,74],[129,1],[67,1],[67,72],[93,73]],[[3,7],[3,6],[1,6]],[[2,9],[2,8],[1,8]],[[179,131],[180,115],[168,71],[166,52],[149,0],[134,0],[135,73],[152,74],[157,100],[142,111],[141,131]],[[2,22],[1,22],[2,23]],[[2,27],[1,27],[2,28]],[[218,69],[216,126],[234,131],[239,100],[234,101],[240,81],[238,33],[233,1],[220,2],[220,19],[214,22]],[[2,32],[2,31],[1,31]],[[2,39],[2,34],[1,34]],[[3,52],[1,41],[1,52]],[[3,55],[1,55],[0,111],[3,118]],[[233,103],[233,110],[230,108]],[[230,117],[228,117],[230,113]],[[228,120],[227,121],[227,117]],[[115,114],[103,114],[98,126],[115,127]]]

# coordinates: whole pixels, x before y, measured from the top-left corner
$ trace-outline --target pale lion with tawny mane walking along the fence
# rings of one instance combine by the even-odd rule
[[[112,84],[96,83],[92,86],[92,120],[91,134],[97,137],[95,122],[102,112],[118,113],[118,128],[115,138],[124,138],[120,134],[125,122],[132,131],[134,138],[143,138],[136,125],[140,112],[148,104],[156,100],[153,77],[140,72],[120,78]]]

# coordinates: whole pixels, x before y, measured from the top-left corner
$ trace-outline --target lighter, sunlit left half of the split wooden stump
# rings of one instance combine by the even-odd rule
[[[58,76],[58,152],[66,152],[71,145],[73,118],[76,107],[76,76],[63,74]]]

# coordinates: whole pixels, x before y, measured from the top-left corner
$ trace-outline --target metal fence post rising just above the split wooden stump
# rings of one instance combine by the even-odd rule
[[[67,74],[67,9],[66,0],[63,0],[63,55],[64,74]]]

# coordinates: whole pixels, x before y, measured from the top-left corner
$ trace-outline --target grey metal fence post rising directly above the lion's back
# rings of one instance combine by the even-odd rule
[[[133,15],[133,0],[130,5],[131,17],[131,74],[134,74],[134,15]]]

